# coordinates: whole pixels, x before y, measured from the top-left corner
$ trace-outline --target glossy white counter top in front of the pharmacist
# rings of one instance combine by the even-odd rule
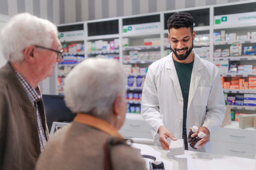
[[[222,156],[185,150],[185,155],[171,156],[161,147],[145,144],[131,144],[141,149],[140,154],[151,155],[156,161],[163,161],[166,170],[256,170],[256,160],[233,156]],[[144,159],[149,169],[149,161]]]

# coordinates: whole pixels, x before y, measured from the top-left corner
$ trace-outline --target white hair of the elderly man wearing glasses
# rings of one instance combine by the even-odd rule
[[[38,18],[29,13],[17,14],[1,29],[3,56],[7,61],[21,62],[23,50],[29,45],[52,46],[57,27],[49,20]]]

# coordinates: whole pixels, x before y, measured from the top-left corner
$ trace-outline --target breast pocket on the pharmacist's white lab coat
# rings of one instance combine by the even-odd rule
[[[193,105],[206,106],[211,88],[197,87],[193,96]]]

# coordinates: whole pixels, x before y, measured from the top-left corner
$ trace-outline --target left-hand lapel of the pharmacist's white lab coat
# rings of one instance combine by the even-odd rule
[[[178,91],[180,94],[182,94],[181,92],[181,88],[180,88],[180,81],[175,69],[175,65],[172,59],[172,53],[169,54],[169,56],[167,56],[168,59],[166,60],[166,68],[167,68],[167,73],[169,74],[169,76],[171,77],[173,83],[175,84],[175,86],[177,87]]]

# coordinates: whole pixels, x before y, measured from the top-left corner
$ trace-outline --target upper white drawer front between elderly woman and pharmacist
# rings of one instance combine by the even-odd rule
[[[125,119],[121,130],[151,133],[150,126],[144,120]]]

